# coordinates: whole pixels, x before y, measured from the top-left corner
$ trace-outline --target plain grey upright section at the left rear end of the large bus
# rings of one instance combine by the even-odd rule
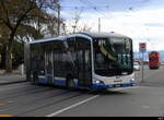
[[[31,60],[30,60],[30,44],[24,45],[24,64],[26,72],[26,80],[31,81]]]

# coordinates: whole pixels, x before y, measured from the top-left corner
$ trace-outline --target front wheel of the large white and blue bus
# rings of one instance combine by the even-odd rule
[[[74,81],[72,75],[68,75],[67,81],[66,81],[66,87],[69,89],[73,89],[74,87]]]

